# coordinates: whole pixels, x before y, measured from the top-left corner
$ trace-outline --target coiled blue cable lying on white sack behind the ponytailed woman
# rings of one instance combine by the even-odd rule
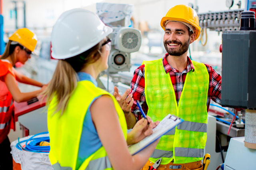
[[[19,150],[26,150],[29,152],[36,152],[36,153],[47,153],[50,151],[50,146],[38,146],[40,142],[46,141],[50,142],[49,136],[44,137],[38,137],[34,138],[35,136],[41,135],[41,134],[48,134],[48,132],[41,132],[38,134],[35,134],[34,136],[31,136],[27,140],[20,141],[20,138],[18,138],[18,143],[16,144],[16,148]],[[26,146],[22,147],[20,143],[26,142]],[[28,143],[29,142],[29,143]]]

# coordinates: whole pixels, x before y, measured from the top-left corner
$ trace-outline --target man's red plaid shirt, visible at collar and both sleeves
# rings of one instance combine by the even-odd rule
[[[180,95],[184,86],[186,74],[189,71],[194,71],[194,66],[190,58],[188,57],[187,67],[182,72],[180,72],[169,65],[169,63],[166,60],[167,56],[168,56],[168,53],[163,57],[164,70],[166,73],[170,74],[172,85],[176,95],[176,101],[177,101],[177,104],[179,104]],[[205,64],[205,66],[209,73],[209,89],[208,89],[208,96],[207,96],[207,103],[206,103],[207,111],[208,111],[211,99],[216,103],[220,104],[221,76],[210,65]],[[140,102],[145,114],[147,114],[148,112],[148,105],[146,103],[145,91],[144,91],[144,88],[145,88],[144,70],[145,70],[144,65],[141,65],[140,67],[138,67],[134,71],[134,76],[131,82],[130,93],[132,93],[132,97],[134,99],[134,103],[132,105],[132,113],[135,115],[137,120],[141,119],[141,113],[136,105],[136,101]]]

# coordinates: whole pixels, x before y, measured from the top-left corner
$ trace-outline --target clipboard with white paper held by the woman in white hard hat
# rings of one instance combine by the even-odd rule
[[[175,128],[176,126],[180,125],[180,123],[183,122],[183,119],[168,114],[155,128],[153,128],[153,133],[150,136],[147,136],[140,142],[136,144],[132,144],[128,146],[128,150],[131,155],[134,155],[144,148],[146,148],[148,145],[150,145],[152,142],[156,141],[158,138]]]

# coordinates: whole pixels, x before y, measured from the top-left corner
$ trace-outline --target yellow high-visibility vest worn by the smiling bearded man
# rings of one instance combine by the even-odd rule
[[[143,62],[147,115],[153,121],[161,121],[169,113],[184,119],[183,123],[161,137],[149,158],[152,162],[162,158],[161,164],[168,164],[172,159],[174,164],[179,164],[203,158],[207,138],[209,73],[203,63],[192,63],[194,71],[186,74],[177,105],[170,74],[165,72],[162,59]]]

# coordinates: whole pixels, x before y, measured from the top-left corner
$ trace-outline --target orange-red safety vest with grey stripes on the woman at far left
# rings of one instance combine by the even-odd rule
[[[12,65],[8,62],[0,60],[0,77],[5,76],[10,72],[14,78],[14,72]],[[15,130],[14,119],[12,113],[14,111],[14,104],[12,99],[12,94],[8,91],[5,100],[0,101],[0,143],[7,137],[10,132],[10,128]]]

